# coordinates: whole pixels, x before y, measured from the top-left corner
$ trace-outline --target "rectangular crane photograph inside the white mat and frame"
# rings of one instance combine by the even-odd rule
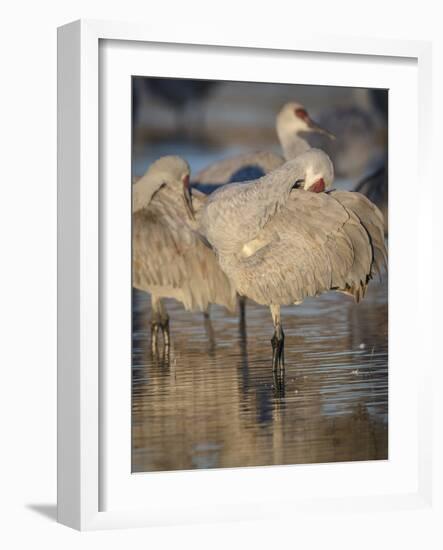
[[[388,95],[132,76],[132,473],[389,458]]]

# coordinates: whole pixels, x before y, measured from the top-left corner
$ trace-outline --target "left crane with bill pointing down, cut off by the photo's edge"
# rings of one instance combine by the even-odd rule
[[[165,348],[170,342],[163,298],[175,298],[191,311],[206,312],[211,303],[236,307],[235,290],[213,251],[187,225],[189,172],[186,161],[166,156],[133,186],[133,286],[151,294],[154,353],[159,330]]]

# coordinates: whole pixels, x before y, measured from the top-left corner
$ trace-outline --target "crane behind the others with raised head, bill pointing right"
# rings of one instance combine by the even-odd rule
[[[258,179],[281,166],[285,159],[293,159],[308,151],[311,148],[309,134],[319,133],[334,138],[311,119],[301,103],[295,101],[282,107],[275,126],[284,158],[270,151],[237,155],[215,162],[199,172],[193,186],[204,193],[210,193],[222,184]]]

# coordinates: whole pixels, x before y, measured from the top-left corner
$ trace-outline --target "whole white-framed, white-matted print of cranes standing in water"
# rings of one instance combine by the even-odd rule
[[[429,45],[195,40],[59,29],[59,521],[428,506]]]

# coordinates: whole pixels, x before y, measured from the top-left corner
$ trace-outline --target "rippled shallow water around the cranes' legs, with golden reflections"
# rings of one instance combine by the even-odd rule
[[[387,281],[361,304],[330,293],[283,308],[284,381],[271,368],[267,308],[246,329],[214,306],[166,301],[170,360],[151,358],[149,296],[134,291],[134,472],[375,460],[388,457]]]

